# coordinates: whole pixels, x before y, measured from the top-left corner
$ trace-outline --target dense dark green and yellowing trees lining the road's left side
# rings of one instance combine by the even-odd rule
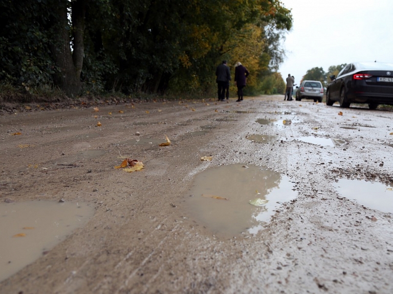
[[[249,95],[284,92],[279,1],[0,1],[0,15],[0,103],[213,95],[224,59],[247,66]]]

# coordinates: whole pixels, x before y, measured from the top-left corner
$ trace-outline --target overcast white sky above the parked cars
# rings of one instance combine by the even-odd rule
[[[279,72],[299,84],[313,67],[355,61],[393,63],[393,0],[281,0],[293,27]]]

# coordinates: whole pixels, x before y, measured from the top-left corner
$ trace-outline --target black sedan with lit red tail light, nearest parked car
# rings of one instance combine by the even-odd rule
[[[382,62],[354,62],[346,65],[326,89],[326,105],[340,102],[368,103],[370,109],[379,104],[393,105],[393,64]]]

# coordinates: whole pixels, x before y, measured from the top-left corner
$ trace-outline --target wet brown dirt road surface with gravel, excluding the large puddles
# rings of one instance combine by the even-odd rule
[[[282,99],[0,116],[1,202],[94,208],[83,227],[3,280],[0,292],[393,293],[392,211],[362,206],[335,186],[383,184],[393,201],[393,112]],[[165,135],[172,144],[158,146]],[[144,168],[115,169],[124,157]],[[232,164],[287,176],[297,194],[256,234],[221,235],[189,213],[199,197],[189,194],[195,176]],[[6,255],[0,267],[12,263]]]

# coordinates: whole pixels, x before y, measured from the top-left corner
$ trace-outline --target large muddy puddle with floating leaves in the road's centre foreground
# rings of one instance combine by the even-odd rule
[[[217,236],[256,234],[269,222],[281,202],[297,196],[285,175],[257,166],[227,165],[195,176],[185,195],[191,218]],[[223,199],[223,198],[227,198]],[[261,206],[250,200],[261,199]]]

